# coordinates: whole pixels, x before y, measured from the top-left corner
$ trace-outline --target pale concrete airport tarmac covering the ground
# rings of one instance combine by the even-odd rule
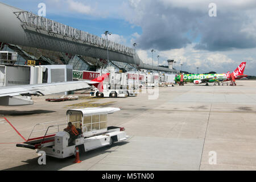
[[[77,95],[82,96],[82,95]],[[0,106],[1,170],[255,170],[256,80],[237,86],[184,86],[143,89],[137,97],[80,98],[34,105]],[[69,108],[119,107],[109,126],[125,127],[130,136],[113,147],[102,147],[73,158],[47,156],[38,164],[35,150],[19,148],[23,139],[3,119],[28,138],[36,123],[64,121]]]

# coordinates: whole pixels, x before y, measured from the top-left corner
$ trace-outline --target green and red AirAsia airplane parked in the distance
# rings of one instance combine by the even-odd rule
[[[193,84],[203,84],[206,83],[205,86],[208,86],[208,82],[224,82],[224,81],[233,81],[247,77],[247,75],[243,75],[243,71],[245,71],[246,62],[242,62],[237,69],[230,73],[222,73],[222,74],[190,74],[190,75],[177,75],[175,77],[175,81],[183,81],[183,82],[193,82]]]

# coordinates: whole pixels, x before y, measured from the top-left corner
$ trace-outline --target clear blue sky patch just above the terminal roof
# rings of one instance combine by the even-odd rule
[[[14,7],[18,7],[22,10],[32,11],[32,13],[38,14],[38,4],[43,2],[46,4],[47,14],[46,17],[56,22],[67,24],[71,27],[78,28],[83,31],[90,32],[94,35],[101,36],[106,30],[113,32],[113,34],[122,35],[125,38],[131,38],[131,35],[137,32],[142,33],[141,27],[134,26],[129,22],[113,16],[106,18],[94,17],[86,14],[76,14],[76,12],[65,14],[61,13],[61,10],[55,11],[55,7],[52,7],[52,3],[49,1],[31,1],[31,0],[1,0],[0,2],[6,3]],[[113,3],[113,2],[112,2]],[[111,5],[111,3],[110,3]],[[128,43],[128,46],[131,46]]]

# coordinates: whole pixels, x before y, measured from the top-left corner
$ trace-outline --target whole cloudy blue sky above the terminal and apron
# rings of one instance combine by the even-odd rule
[[[234,71],[246,61],[256,76],[255,0],[0,0],[46,18],[133,47],[144,63],[205,73]],[[151,49],[155,52],[152,55]]]

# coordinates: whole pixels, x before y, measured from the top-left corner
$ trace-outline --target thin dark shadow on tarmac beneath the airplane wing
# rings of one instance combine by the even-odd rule
[[[32,115],[32,114],[46,114],[54,113],[54,110],[0,110],[0,115]]]

